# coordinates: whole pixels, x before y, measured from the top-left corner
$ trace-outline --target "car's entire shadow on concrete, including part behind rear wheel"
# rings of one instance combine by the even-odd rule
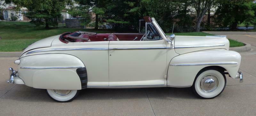
[[[21,85],[19,88],[22,88]],[[30,88],[30,87],[26,87]],[[131,88],[131,89],[84,89],[75,100],[115,100],[115,99],[199,99],[191,88]],[[27,102],[55,102],[51,100],[45,90],[11,90],[1,97],[2,100],[16,100]]]

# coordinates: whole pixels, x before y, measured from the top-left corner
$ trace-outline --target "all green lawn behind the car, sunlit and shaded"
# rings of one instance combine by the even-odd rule
[[[74,32],[77,30],[89,31],[96,33],[115,33],[113,30],[95,30],[95,29],[76,29],[64,28],[60,24],[59,28],[44,29],[44,26],[36,27],[29,22],[4,22],[0,21],[0,52],[22,51],[28,45],[53,35],[58,35],[64,32]],[[172,33],[166,33],[171,35]],[[186,36],[206,36],[212,35],[204,32],[191,32],[191,33],[174,33],[175,35]],[[244,46],[243,43],[236,40],[230,40],[230,47]]]

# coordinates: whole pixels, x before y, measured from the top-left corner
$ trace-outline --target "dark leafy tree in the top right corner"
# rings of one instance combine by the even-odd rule
[[[252,0],[218,0],[217,3],[215,22],[221,27],[230,26],[231,30],[236,30],[240,23],[248,25],[256,22],[256,4]]]

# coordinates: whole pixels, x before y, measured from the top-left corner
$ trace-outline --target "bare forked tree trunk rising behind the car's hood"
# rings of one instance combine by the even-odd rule
[[[204,15],[214,3],[215,0],[191,0],[192,7],[196,10],[196,32],[200,32],[200,24]]]

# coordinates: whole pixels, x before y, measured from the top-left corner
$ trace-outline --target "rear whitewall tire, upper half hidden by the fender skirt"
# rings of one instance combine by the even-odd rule
[[[46,90],[50,98],[57,102],[70,102],[79,94],[78,90]]]

